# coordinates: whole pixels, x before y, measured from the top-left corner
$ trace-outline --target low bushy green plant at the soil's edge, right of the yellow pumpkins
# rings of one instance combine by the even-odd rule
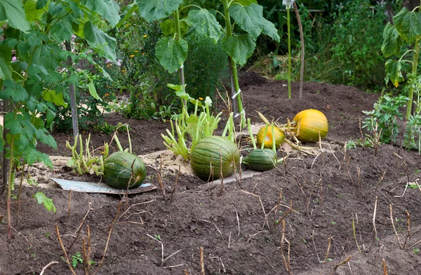
[[[373,131],[376,125],[382,132],[380,133],[380,141],[390,143],[396,140],[399,133],[397,119],[402,120],[403,114],[399,112],[399,108],[406,104],[408,98],[404,95],[393,97],[390,94],[382,95],[373,106],[373,110],[363,111],[369,117],[363,121],[363,128]]]

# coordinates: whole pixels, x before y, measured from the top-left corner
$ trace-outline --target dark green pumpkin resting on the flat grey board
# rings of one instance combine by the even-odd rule
[[[110,187],[116,189],[136,188],[142,185],[145,177],[145,163],[135,154],[115,152],[110,154],[104,161],[104,175],[102,175],[102,178]]]

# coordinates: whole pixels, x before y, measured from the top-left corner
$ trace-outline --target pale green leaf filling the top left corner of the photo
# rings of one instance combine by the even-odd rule
[[[29,30],[29,22],[25,18],[22,1],[1,0],[0,21],[8,20],[9,25],[22,32]]]

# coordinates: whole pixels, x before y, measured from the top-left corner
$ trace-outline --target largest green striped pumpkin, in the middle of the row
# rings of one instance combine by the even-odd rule
[[[217,180],[221,177],[221,159],[222,177],[229,177],[239,168],[239,149],[226,137],[211,135],[197,142],[192,152],[190,166],[194,175],[201,180]],[[211,176],[212,170],[213,176]]]

